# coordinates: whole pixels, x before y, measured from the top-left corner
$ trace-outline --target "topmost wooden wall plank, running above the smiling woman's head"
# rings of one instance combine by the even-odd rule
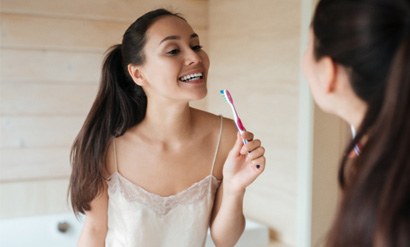
[[[1,12],[130,22],[155,8],[182,13],[194,26],[207,26],[208,1],[203,0],[2,0]]]

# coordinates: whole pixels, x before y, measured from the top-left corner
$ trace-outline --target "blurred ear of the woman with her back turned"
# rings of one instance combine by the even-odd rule
[[[322,57],[318,61],[318,80],[326,93],[332,93],[337,83],[337,65],[330,57]]]

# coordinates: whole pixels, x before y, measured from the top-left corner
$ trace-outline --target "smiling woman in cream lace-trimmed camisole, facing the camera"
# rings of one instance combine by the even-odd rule
[[[209,225],[217,246],[237,242],[264,148],[189,106],[207,94],[208,67],[192,27],[164,9],[111,48],[71,154],[71,202],[86,215],[80,246],[203,246]]]

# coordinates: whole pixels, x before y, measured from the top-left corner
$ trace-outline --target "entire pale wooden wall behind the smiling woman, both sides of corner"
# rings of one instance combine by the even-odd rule
[[[104,52],[136,17],[166,7],[184,14],[211,58],[208,97],[194,105],[231,117],[218,93],[230,89],[266,147],[266,171],[245,197],[247,217],[268,225],[281,246],[316,245],[323,236],[344,135],[313,108],[301,80],[315,0],[0,1],[0,219],[69,211],[70,145]]]

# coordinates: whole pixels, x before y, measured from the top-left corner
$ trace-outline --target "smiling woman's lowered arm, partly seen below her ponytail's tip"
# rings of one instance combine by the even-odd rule
[[[85,213],[85,222],[78,247],[104,247],[107,234],[107,188],[91,202],[91,210]]]

